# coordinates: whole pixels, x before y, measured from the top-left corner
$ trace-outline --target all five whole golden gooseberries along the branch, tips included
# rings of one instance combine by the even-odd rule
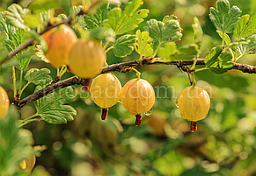
[[[98,41],[77,39],[67,25],[60,25],[44,33],[48,43],[46,57],[53,67],[67,65],[73,74],[91,79],[102,71],[105,61],[103,47]],[[65,36],[65,38],[62,38]],[[108,109],[119,102],[136,116],[136,125],[141,124],[142,113],[149,111],[155,102],[154,89],[148,81],[137,79],[128,81],[123,88],[113,74],[100,74],[91,83],[91,100],[102,108],[101,119],[105,120]],[[191,121],[190,129],[197,130],[196,122],[208,114],[209,97],[205,90],[197,86],[185,88],[179,95],[178,106],[183,118]]]

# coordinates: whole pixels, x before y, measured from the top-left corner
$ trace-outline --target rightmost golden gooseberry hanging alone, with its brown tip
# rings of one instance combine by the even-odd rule
[[[190,130],[197,130],[196,122],[208,114],[210,99],[208,93],[198,86],[182,90],[178,97],[178,107],[182,118],[191,121]]]

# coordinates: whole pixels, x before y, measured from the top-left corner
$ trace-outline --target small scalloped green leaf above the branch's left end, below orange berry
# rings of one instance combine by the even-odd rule
[[[24,79],[35,85],[44,86],[50,81],[53,81],[52,77],[49,75],[50,73],[51,71],[48,68],[32,68],[26,72]]]

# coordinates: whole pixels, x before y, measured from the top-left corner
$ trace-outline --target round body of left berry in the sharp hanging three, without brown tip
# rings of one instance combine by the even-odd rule
[[[120,100],[121,83],[113,74],[100,74],[92,81],[90,93],[100,108],[110,108]]]

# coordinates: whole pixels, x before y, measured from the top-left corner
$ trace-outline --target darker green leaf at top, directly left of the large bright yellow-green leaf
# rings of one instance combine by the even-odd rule
[[[113,4],[102,4],[96,10],[95,14],[88,14],[84,16],[84,21],[86,25],[90,28],[97,28],[100,27],[102,22],[106,19],[107,12],[113,9]]]

